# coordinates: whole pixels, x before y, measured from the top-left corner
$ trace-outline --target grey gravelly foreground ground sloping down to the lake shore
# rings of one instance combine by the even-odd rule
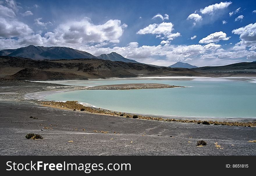
[[[182,122],[161,117],[130,118],[120,116],[120,112],[104,115],[80,111],[80,106],[74,111],[64,105],[46,106],[38,101],[40,96],[32,99],[26,95],[86,87],[67,89],[65,85],[6,79],[1,79],[0,87],[0,155],[256,154],[256,143],[248,142],[255,140],[255,122],[252,126],[203,125],[189,119]],[[43,139],[26,139],[27,133],[40,134]],[[198,140],[207,145],[197,147]],[[216,143],[221,147],[216,147]]]

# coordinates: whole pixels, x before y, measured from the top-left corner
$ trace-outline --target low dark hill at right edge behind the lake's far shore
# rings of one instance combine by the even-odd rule
[[[240,62],[224,66],[206,66],[193,68],[195,71],[229,71],[229,70],[256,70],[256,62]]]

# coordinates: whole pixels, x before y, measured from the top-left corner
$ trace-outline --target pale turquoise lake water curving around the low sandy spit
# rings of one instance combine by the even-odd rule
[[[185,88],[76,90],[47,95],[48,100],[77,100],[114,111],[190,117],[256,117],[255,78],[147,77],[77,81],[44,81],[97,86],[163,83]]]

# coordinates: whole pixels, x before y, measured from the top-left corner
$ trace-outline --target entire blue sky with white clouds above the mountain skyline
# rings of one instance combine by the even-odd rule
[[[256,60],[255,1],[0,0],[0,50],[63,46],[197,66]]]

